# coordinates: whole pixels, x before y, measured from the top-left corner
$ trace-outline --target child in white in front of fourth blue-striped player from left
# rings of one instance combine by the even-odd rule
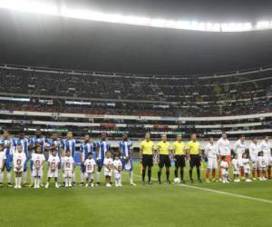
[[[49,183],[51,178],[54,178],[55,187],[59,188],[58,177],[59,177],[59,163],[61,163],[60,157],[58,154],[58,149],[55,147],[51,150],[51,155],[48,158],[48,172],[47,172],[47,183],[45,188],[49,188]]]

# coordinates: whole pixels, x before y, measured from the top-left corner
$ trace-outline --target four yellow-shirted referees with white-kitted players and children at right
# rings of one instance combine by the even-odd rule
[[[146,133],[145,140],[140,145],[140,159],[142,163],[142,182],[145,182],[146,170],[148,171],[148,181],[151,184],[151,167],[153,165],[153,156],[158,156],[159,171],[158,182],[161,183],[161,171],[166,167],[166,183],[170,183],[170,159],[175,162],[175,183],[185,183],[184,167],[186,161],[189,162],[189,181],[194,183],[192,178],[193,168],[197,169],[198,182],[200,179],[201,161],[206,156],[208,166],[206,170],[206,182],[210,183],[209,173],[212,175],[212,182],[216,182],[216,171],[219,167],[219,181],[229,183],[228,172],[232,165],[234,173],[234,181],[239,182],[245,180],[250,182],[250,171],[252,171],[253,180],[266,180],[271,178],[271,144],[268,136],[264,137],[261,143],[257,143],[257,138],[254,138],[249,145],[249,153],[246,153],[246,137],[241,135],[238,141],[234,144],[234,155],[231,159],[230,142],[227,138],[227,133],[222,133],[221,138],[217,143],[213,138],[209,138],[209,142],[205,147],[205,152],[201,153],[200,144],[197,141],[196,133],[191,134],[191,140],[185,144],[182,142],[181,135],[177,135],[176,142],[170,144],[167,141],[166,134],[161,135],[161,141],[154,147],[151,142],[150,133]],[[204,154],[204,155],[203,155]],[[178,176],[180,170],[180,177]]]

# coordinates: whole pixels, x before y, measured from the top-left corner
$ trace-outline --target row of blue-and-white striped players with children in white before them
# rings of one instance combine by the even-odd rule
[[[66,138],[60,139],[57,133],[53,133],[50,139],[45,138],[40,130],[36,130],[35,136],[27,138],[24,133],[19,138],[11,138],[8,131],[4,131],[0,140],[0,186],[3,186],[4,172],[6,170],[8,187],[12,185],[12,170],[15,172],[15,188],[27,187],[27,168],[30,163],[31,185],[39,188],[43,179],[45,157],[44,152],[49,152],[48,181],[55,179],[55,187],[59,187],[59,172],[63,171],[63,185],[71,187],[75,184],[75,148],[80,143],[81,159],[81,185],[93,186],[93,175],[96,172],[96,185],[100,185],[101,172],[104,167],[104,176],[107,186],[112,186],[111,176],[114,173],[115,186],[121,186],[121,171],[128,171],[130,184],[133,183],[132,173],[132,143],[127,134],[122,135],[119,143],[119,153],[112,160],[111,143],[106,133],[102,133],[101,140],[93,143],[89,134],[83,141],[73,138],[73,133],[68,132]]]

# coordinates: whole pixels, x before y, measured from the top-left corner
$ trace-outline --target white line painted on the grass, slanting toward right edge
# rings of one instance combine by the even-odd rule
[[[133,176],[137,176],[137,177],[141,178],[141,175],[139,175],[139,174],[133,174]],[[157,179],[151,178],[151,180],[155,181]],[[206,191],[206,192],[214,192],[214,193],[228,195],[228,196],[237,197],[237,198],[241,198],[241,199],[257,201],[257,202],[266,202],[266,203],[272,204],[271,200],[260,199],[260,198],[251,197],[251,196],[247,196],[247,195],[236,194],[236,193],[231,193],[231,192],[222,192],[222,191],[219,191],[219,190],[214,190],[214,189],[209,189],[209,188],[202,188],[202,187],[192,186],[192,185],[188,185],[188,184],[179,184],[179,185],[180,185],[180,187],[193,188],[193,189],[198,189],[198,190],[202,190],[202,191]]]

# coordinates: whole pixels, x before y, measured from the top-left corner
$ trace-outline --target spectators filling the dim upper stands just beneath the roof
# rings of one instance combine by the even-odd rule
[[[1,69],[0,93],[51,95],[67,99],[89,98],[132,100],[111,106],[67,105],[53,98],[53,104],[3,103],[1,109],[80,114],[135,114],[161,116],[213,116],[255,114],[272,111],[270,71],[222,77],[145,77],[97,74],[68,74]],[[139,102],[138,102],[139,101]],[[155,108],[155,101],[169,108]]]

